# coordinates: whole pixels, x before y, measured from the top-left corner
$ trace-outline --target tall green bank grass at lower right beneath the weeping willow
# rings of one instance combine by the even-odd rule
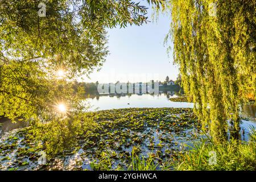
[[[256,170],[256,130],[250,127],[250,140],[230,139],[222,144],[214,144],[212,138],[202,138],[194,142],[188,150],[181,150],[166,162],[154,163],[155,158],[133,156],[133,170],[177,170],[177,171],[255,171]],[[216,161],[210,163],[211,154]],[[150,156],[150,155],[149,155]],[[214,159],[213,159],[214,160]]]

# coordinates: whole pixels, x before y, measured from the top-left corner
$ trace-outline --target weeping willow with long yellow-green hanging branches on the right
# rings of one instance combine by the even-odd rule
[[[174,43],[183,88],[203,129],[226,139],[227,120],[239,129],[239,105],[255,100],[256,1],[170,0],[167,35]]]

